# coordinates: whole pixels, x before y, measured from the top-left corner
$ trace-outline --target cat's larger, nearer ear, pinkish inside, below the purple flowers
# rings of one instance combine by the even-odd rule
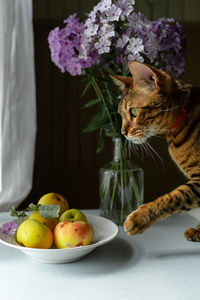
[[[128,63],[129,71],[134,82],[145,82],[152,88],[161,87],[164,81],[164,73],[150,65],[132,60]]]

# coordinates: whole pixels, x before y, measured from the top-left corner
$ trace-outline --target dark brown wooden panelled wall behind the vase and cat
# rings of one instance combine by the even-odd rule
[[[80,105],[92,95],[80,99],[83,85],[79,78],[60,72],[51,62],[47,43],[52,28],[74,12],[84,16],[94,3],[97,1],[33,0],[38,131],[33,189],[21,207],[28,202],[37,202],[40,196],[52,191],[65,195],[73,207],[98,207],[98,171],[110,160],[112,143],[108,139],[103,153],[98,155],[95,153],[96,133],[81,133],[94,111],[82,110]],[[183,19],[190,16],[190,20],[195,19],[199,12],[197,7],[196,14],[191,12],[187,15],[182,3],[190,3],[190,11],[195,4],[199,5],[199,1],[195,0],[136,0],[136,7],[143,9],[142,12],[149,17],[169,13],[168,17]],[[200,85],[197,59],[200,25],[191,22],[183,25],[189,42],[186,79]],[[143,156],[140,153],[140,160],[136,155],[132,158],[144,169],[145,202],[152,201],[185,180],[169,158],[165,140],[154,139],[151,145],[162,157],[162,162],[153,152],[149,155],[143,153]]]

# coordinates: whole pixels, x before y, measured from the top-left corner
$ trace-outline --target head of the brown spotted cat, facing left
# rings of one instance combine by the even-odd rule
[[[130,61],[128,67],[132,77],[112,76],[122,91],[118,108],[121,133],[133,143],[141,144],[167,129],[166,113],[173,80],[167,73],[137,61]]]

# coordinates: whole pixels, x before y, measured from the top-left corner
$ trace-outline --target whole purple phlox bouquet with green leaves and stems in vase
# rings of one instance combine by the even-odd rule
[[[120,97],[113,90],[108,74],[128,75],[129,60],[149,63],[177,77],[183,75],[185,67],[185,37],[180,24],[169,18],[150,21],[142,13],[135,12],[134,4],[134,0],[101,0],[84,21],[80,21],[76,14],[71,15],[64,21],[63,28],[56,27],[48,36],[52,61],[62,72],[72,76],[84,75],[86,86],[82,95],[90,88],[96,93],[95,99],[90,99],[84,105],[86,108],[98,107],[84,132],[99,131],[97,152],[104,147],[105,135],[117,138],[121,143],[118,162],[112,162],[114,171],[128,167],[120,133],[121,118],[117,113]],[[100,197],[103,202],[113,176],[115,178],[112,173],[106,177],[107,185],[105,182],[101,184]],[[124,190],[127,179],[121,175],[119,178],[119,182],[112,180],[111,191],[107,193],[110,199],[107,202],[110,204],[106,206],[106,211],[108,216],[112,215],[114,199],[120,194],[123,198],[120,202],[122,222],[125,194],[117,191],[116,182]],[[139,203],[141,193],[138,192],[134,175],[132,179],[131,185]]]

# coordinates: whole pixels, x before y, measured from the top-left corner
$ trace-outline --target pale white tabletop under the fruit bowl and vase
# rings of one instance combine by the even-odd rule
[[[0,223],[7,220],[0,213]],[[121,227],[114,241],[69,264],[39,263],[0,244],[0,299],[200,299],[200,243],[183,236],[196,222],[176,215],[134,237]]]

